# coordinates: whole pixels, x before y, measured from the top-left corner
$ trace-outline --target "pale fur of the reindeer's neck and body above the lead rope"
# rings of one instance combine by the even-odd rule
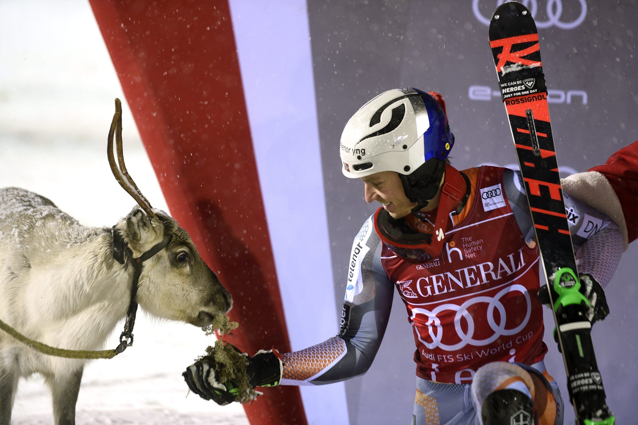
[[[101,348],[126,315],[133,267],[112,257],[110,228],[84,227],[52,203],[24,210],[0,220],[0,237],[13,239],[0,239],[0,318],[54,347]]]

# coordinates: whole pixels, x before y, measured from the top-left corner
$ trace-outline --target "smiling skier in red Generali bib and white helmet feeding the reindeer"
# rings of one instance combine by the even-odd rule
[[[411,87],[379,94],[348,121],[342,172],[382,207],[353,241],[337,336],[292,353],[248,355],[251,385],[320,385],[362,375],[380,346],[396,287],[413,327],[417,392],[412,424],[562,424],[547,373],[538,301],[539,257],[519,172],[459,171],[445,101]],[[565,195],[592,322],[607,314],[603,287],[623,239],[614,221]],[[595,221],[591,231],[588,221]],[[202,398],[235,400],[214,361],[184,378]],[[524,419],[528,422],[524,422]],[[533,421],[533,422],[532,422]]]

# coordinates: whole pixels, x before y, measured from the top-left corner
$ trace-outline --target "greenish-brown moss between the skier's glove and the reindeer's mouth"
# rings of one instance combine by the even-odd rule
[[[238,326],[237,322],[231,322],[227,316],[219,315],[214,318],[211,325],[202,329],[207,335],[214,334],[216,330],[219,330],[219,334],[223,337],[237,329]],[[246,372],[248,356],[242,354],[234,345],[218,339],[214,345],[209,345],[206,348],[206,354],[198,357],[196,361],[202,359],[209,359],[209,364],[214,365],[215,377],[218,382],[233,382],[237,386],[237,401],[239,403],[249,403],[257,398],[259,393],[251,387]]]

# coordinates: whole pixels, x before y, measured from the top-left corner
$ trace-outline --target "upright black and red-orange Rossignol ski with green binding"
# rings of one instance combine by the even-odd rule
[[[581,283],[549,121],[538,31],[530,11],[514,1],[498,6],[489,25],[489,43],[554,306],[555,332],[576,422],[611,425],[614,416],[605,400],[591,324],[586,318],[589,302],[579,290]]]

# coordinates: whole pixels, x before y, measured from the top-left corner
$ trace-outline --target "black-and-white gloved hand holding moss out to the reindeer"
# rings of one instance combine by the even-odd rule
[[[239,350],[237,351],[239,352]],[[253,389],[279,385],[283,373],[283,362],[277,348],[272,347],[272,350],[268,351],[259,350],[253,357],[246,353],[242,353],[242,355],[248,359],[246,375],[248,375],[249,384]],[[217,368],[218,365],[211,356],[204,357],[204,359],[188,366],[186,371],[182,373],[182,377],[195,394],[225,406],[237,401],[239,387],[232,381],[219,382],[218,375],[215,373]],[[256,394],[261,395],[262,393],[256,392]]]

